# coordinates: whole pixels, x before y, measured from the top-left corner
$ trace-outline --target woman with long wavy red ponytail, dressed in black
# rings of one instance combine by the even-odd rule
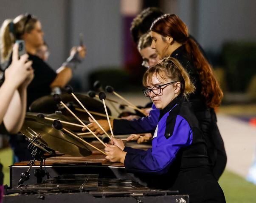
[[[177,15],[165,14],[159,17],[153,22],[150,31],[151,47],[158,57],[176,58],[188,71],[196,87],[196,91],[189,96],[189,102],[205,134],[208,156],[218,180],[225,169],[227,157],[214,112],[214,108],[221,103],[223,93],[212,68]]]

